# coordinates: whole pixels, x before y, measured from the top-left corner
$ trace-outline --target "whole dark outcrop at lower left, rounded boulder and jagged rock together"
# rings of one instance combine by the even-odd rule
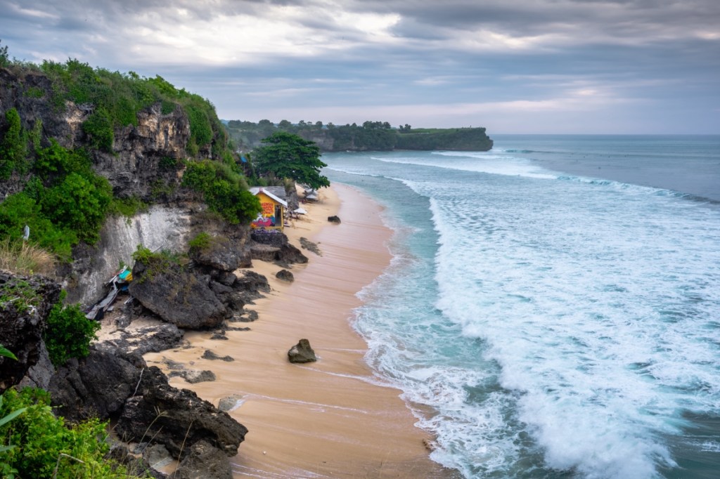
[[[230,470],[228,456],[238,452],[248,432],[192,391],[170,386],[166,375],[148,368],[137,353],[126,354],[107,344],[91,347],[84,360],[70,360],[59,368],[49,391],[55,411],[68,421],[117,419],[117,434],[125,442],[143,444],[150,467],[166,462],[166,456],[148,451],[166,450],[182,459],[176,477],[198,477],[193,474],[202,471],[202,477],[220,477],[215,474]],[[123,462],[130,457],[118,448],[116,454]]]

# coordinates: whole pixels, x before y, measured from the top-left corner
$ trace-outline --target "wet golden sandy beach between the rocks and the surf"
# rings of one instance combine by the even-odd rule
[[[320,201],[303,205],[307,216],[285,229],[300,247],[300,237],[315,242],[321,255],[302,250],[310,261],[294,265],[294,282],[278,280],[278,265],[253,260],[253,270],[268,278],[272,291],[249,304],[259,319],[249,331],[228,331],[227,341],[205,332],[186,334],[191,347],[145,356],[164,369],[163,360],[212,370],[217,380],[171,384],[189,388],[217,405],[237,398],[230,414],[248,427],[246,441],[231,458],[235,477],[260,478],[440,478],[448,470],[428,458],[430,439],[400,391],[382,386],[363,357],[364,340],[351,328],[356,296],[390,262],[379,206],[359,191],[333,185]],[[341,224],[330,224],[337,214]],[[310,340],[318,362],[294,365],[287,350]],[[205,350],[233,362],[202,359]]]

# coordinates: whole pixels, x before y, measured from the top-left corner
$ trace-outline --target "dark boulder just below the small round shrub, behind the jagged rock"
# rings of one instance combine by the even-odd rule
[[[117,416],[144,366],[140,355],[92,346],[88,357],[69,360],[50,378],[52,405],[70,421]]]

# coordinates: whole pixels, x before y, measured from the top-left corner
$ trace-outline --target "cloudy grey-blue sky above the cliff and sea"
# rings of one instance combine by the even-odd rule
[[[0,0],[1,46],[222,119],[720,133],[718,0]]]

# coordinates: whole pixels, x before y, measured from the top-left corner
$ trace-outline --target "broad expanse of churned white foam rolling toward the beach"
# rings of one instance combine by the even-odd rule
[[[634,204],[647,188],[622,189],[626,204],[588,196],[582,218],[546,205],[546,224],[513,217],[518,204],[513,216],[472,221],[472,199],[428,192],[441,245],[438,307],[487,341],[546,462],[591,478],[649,478],[672,465],[656,434],[677,434],[678,409],[711,407],[720,386],[720,337],[700,311],[720,301],[720,256],[707,241],[720,229],[688,237],[702,211],[657,214],[659,205]],[[489,222],[508,234],[490,234]],[[660,280],[668,274],[678,280]],[[690,311],[687,291],[698,295]]]

